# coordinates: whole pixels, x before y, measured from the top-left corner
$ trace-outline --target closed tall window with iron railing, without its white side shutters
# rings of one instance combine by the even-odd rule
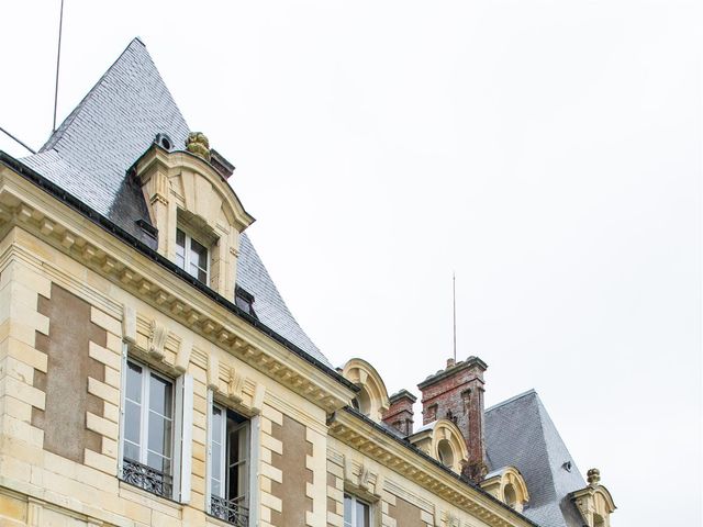
[[[122,479],[155,494],[172,494],[174,383],[127,361]]]

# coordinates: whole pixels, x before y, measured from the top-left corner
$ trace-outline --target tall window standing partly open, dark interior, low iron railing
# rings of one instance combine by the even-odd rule
[[[213,404],[209,455],[210,514],[246,527],[249,518],[249,422]]]

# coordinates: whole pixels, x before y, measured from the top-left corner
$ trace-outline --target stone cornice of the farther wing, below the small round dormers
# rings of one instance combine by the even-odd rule
[[[330,435],[492,527],[535,526],[459,474],[350,408],[328,419]]]

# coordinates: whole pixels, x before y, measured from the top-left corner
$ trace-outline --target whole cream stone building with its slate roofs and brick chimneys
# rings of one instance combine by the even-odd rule
[[[38,154],[0,153],[0,525],[610,525],[534,392],[483,408],[480,359],[420,384],[417,429],[412,393],[334,368],[233,168],[138,40]]]

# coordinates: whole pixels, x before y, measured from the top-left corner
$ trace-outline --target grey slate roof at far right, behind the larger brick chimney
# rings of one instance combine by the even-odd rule
[[[531,390],[486,411],[486,449],[491,470],[512,464],[525,478],[529,492],[525,516],[544,527],[583,525],[568,494],[583,489],[585,481],[537,392]]]

